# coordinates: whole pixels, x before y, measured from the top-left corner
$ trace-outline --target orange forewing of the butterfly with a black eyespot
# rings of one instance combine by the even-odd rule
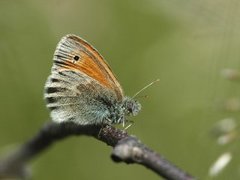
[[[109,65],[96,49],[78,36],[62,38],[54,53],[54,63],[59,71],[69,69],[85,74],[114,91],[119,100],[123,98],[122,88]]]

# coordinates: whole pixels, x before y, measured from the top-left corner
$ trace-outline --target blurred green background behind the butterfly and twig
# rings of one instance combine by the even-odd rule
[[[238,0],[1,0],[0,151],[32,137],[49,119],[43,87],[57,42],[69,33],[92,45],[129,96],[139,99],[129,133],[200,179],[239,179],[240,145],[219,145],[215,123],[239,119],[239,83],[221,76],[240,67]],[[224,108],[234,100],[233,108]],[[232,106],[231,106],[232,107]],[[237,138],[236,138],[237,139]],[[239,139],[238,139],[239,140]],[[224,152],[229,165],[210,177]],[[159,179],[139,165],[115,164],[111,148],[89,137],[54,144],[31,163],[33,179]]]

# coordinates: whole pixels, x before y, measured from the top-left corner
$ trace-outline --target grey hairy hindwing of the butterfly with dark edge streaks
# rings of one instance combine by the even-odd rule
[[[94,79],[74,71],[52,71],[45,85],[47,107],[55,122],[101,124],[109,116],[107,105],[101,101],[108,101],[107,97],[116,98]]]

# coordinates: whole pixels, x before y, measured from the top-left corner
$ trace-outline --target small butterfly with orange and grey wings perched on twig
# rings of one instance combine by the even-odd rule
[[[54,122],[79,125],[120,124],[136,116],[141,104],[123,89],[101,54],[69,34],[58,43],[44,98]]]

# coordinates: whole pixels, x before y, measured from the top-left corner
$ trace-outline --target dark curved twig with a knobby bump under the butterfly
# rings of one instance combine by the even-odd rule
[[[109,125],[79,126],[75,123],[56,124],[53,122],[43,126],[30,141],[0,161],[0,179],[27,178],[29,173],[26,165],[29,160],[49,148],[54,142],[72,135],[92,136],[112,146],[111,157],[115,162],[142,164],[166,179],[194,179],[123,130]]]

